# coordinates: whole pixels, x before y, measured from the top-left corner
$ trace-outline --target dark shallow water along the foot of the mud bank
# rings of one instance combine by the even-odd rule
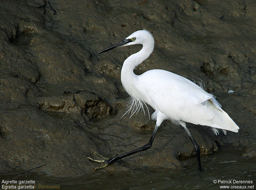
[[[256,186],[255,158],[241,156],[243,150],[225,146],[212,155],[202,156],[203,171],[196,168],[196,157],[182,159],[177,169],[163,167],[126,167],[126,171],[92,171],[80,177],[52,177],[43,173],[4,175],[5,180],[30,180],[39,185],[59,185],[60,189],[220,189],[220,185]],[[213,180],[230,180],[231,184],[214,183]],[[233,180],[253,181],[252,184],[233,183]]]

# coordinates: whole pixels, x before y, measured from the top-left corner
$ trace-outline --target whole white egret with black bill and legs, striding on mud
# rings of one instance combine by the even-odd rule
[[[148,70],[141,75],[134,74],[133,69],[147,59],[154,49],[154,38],[148,31],[136,31],[125,40],[100,51],[98,54],[135,44],[142,44],[143,47],[124,61],[121,70],[123,87],[131,96],[127,113],[133,114],[138,109],[143,109],[143,105],[150,105],[155,109],[151,118],[156,120],[156,126],[149,142],[141,148],[106,160],[95,160],[88,157],[94,162],[105,163],[94,170],[116,163],[117,160],[137,152],[148,150],[152,146],[158,127],[164,120],[171,120],[185,129],[194,145],[198,169],[202,170],[200,148],[186,127],[186,122],[209,126],[216,135],[219,130],[222,130],[224,134],[226,134],[226,130],[238,132],[239,127],[221,109],[220,104],[212,94],[207,93],[202,86],[196,85],[187,78],[160,69]]]

